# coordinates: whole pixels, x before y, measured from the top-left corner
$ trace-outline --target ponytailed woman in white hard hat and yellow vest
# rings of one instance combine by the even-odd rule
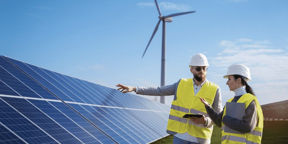
[[[252,88],[247,84],[247,81],[251,81],[249,68],[243,64],[231,65],[228,68],[227,74],[223,77],[228,78],[226,84],[235,93],[235,96],[228,100],[228,102],[245,103],[245,115],[242,120],[232,118],[225,115],[226,107],[224,107],[222,112],[216,113],[204,98],[200,98],[215,125],[222,127],[221,143],[260,144],[263,130],[263,113]],[[225,127],[244,134],[225,132]]]

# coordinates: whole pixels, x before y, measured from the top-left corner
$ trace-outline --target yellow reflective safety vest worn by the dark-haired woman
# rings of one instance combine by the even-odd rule
[[[228,100],[231,102],[233,98]],[[244,94],[240,97],[237,103],[245,103],[245,109],[248,105],[255,101],[256,109],[257,109],[257,125],[252,132],[245,133],[245,134],[235,134],[235,133],[228,133],[224,132],[225,125],[222,122],[222,142],[221,144],[260,144],[262,139],[262,131],[263,131],[263,113],[261,106],[256,98],[252,94]],[[226,115],[226,107],[224,108],[223,117]],[[222,118],[223,118],[222,117]]]

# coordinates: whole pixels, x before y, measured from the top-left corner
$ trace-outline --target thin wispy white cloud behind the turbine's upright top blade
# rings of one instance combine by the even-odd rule
[[[144,6],[144,7],[155,7],[155,3],[137,3],[138,6]],[[159,3],[160,9],[163,10],[178,10],[178,11],[188,11],[191,9],[189,5],[184,4],[175,4],[170,2],[161,2]]]

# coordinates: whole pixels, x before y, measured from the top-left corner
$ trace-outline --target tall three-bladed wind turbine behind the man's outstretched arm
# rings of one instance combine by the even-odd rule
[[[159,21],[154,29],[154,32],[147,44],[147,47],[142,55],[142,58],[151,42],[151,40],[153,39],[157,29],[158,29],[158,26],[160,24],[160,21],[162,20],[162,24],[163,24],[163,27],[162,27],[162,59],[161,59],[161,86],[165,86],[165,73],[166,73],[166,22],[172,22],[172,17],[173,16],[179,16],[179,15],[183,15],[183,14],[189,14],[189,13],[192,13],[192,12],[196,12],[196,11],[191,11],[191,12],[181,12],[181,13],[175,13],[175,14],[169,14],[167,16],[163,16],[161,14],[161,11],[160,11],[160,7],[158,6],[158,3],[157,1],[155,0],[155,4],[156,4],[156,7],[157,7],[157,10],[159,12]],[[161,96],[160,97],[160,103],[164,103],[165,104],[165,97],[164,96]]]

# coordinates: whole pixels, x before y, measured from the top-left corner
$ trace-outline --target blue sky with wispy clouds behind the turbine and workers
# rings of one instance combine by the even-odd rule
[[[190,59],[202,53],[223,105],[234,96],[223,78],[234,63],[250,68],[260,104],[287,100],[288,1],[158,3],[163,15],[196,11],[166,23],[167,85],[192,78]],[[160,86],[162,24],[141,58],[159,20],[152,0],[0,1],[0,13],[1,55],[112,88]]]

